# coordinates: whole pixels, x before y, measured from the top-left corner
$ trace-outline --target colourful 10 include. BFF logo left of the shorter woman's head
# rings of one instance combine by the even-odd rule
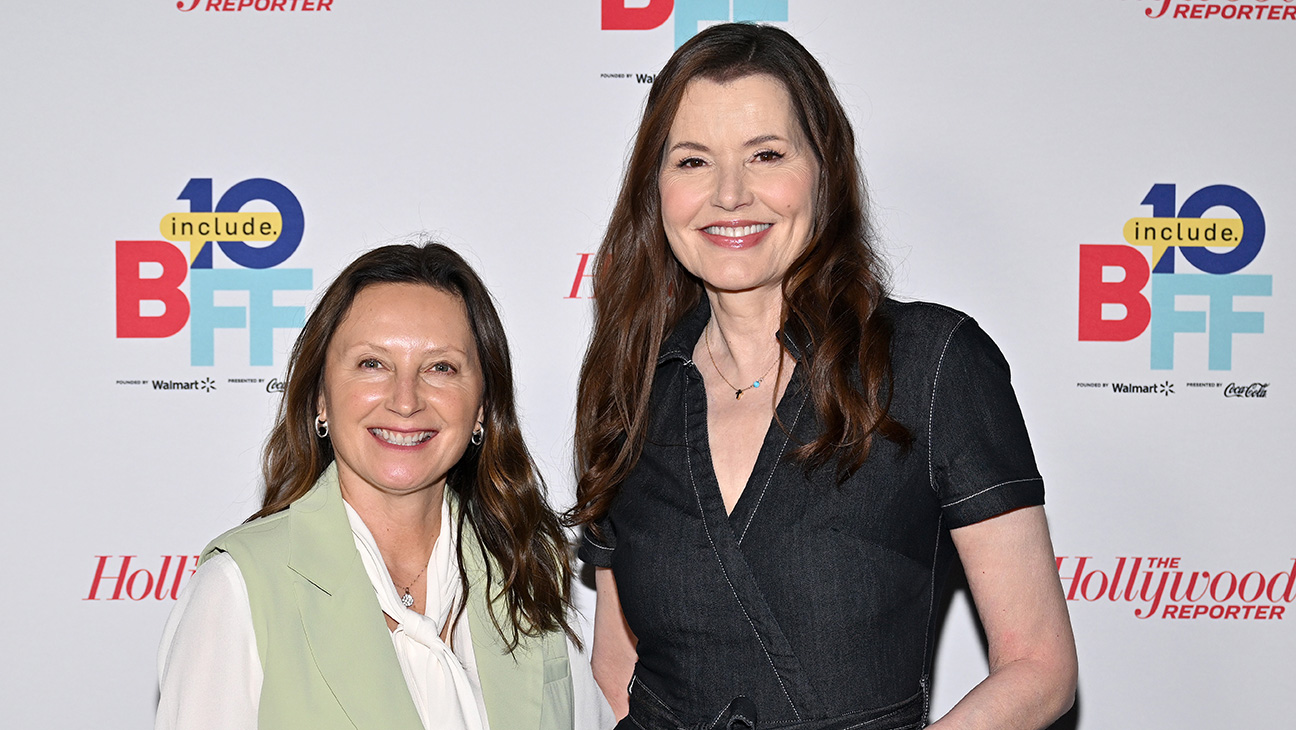
[[[273,364],[275,329],[306,320],[303,306],[279,306],[275,293],[312,287],[310,268],[280,267],[306,230],[301,202],[264,178],[242,180],[219,200],[210,178],[193,178],[179,200],[189,201],[189,210],[162,217],[165,240],[117,241],[118,338],[171,337],[188,324],[189,364],[213,366],[216,329],[248,329],[249,364]],[[245,211],[254,201],[275,210]],[[232,266],[214,266],[215,249]],[[185,280],[188,296],[180,289]],[[248,305],[216,305],[216,292],[242,292]]]

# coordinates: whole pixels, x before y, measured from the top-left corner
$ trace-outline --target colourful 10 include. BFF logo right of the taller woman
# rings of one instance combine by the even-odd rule
[[[1129,245],[1080,246],[1080,340],[1129,341],[1151,329],[1152,370],[1172,370],[1175,338],[1200,333],[1207,367],[1232,370],[1234,335],[1265,331],[1265,314],[1238,310],[1236,300],[1274,288],[1270,275],[1239,274],[1265,245],[1260,204],[1240,188],[1207,185],[1177,205],[1175,187],[1156,184],[1142,205],[1152,215],[1125,223]],[[1231,215],[1204,217],[1221,209]],[[1205,297],[1205,310],[1178,309],[1190,296]]]

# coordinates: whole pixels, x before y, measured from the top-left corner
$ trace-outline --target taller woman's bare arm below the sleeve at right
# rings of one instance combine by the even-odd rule
[[[990,676],[932,730],[1037,730],[1076,700],[1076,639],[1043,507],[950,533],[990,644]]]

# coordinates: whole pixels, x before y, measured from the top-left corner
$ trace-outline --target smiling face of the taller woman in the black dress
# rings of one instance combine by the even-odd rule
[[[818,179],[780,82],[695,79],[660,172],[670,249],[712,290],[776,289],[810,241]]]

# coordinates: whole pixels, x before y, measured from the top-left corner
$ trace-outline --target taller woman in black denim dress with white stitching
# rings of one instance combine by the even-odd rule
[[[594,287],[572,516],[618,727],[924,725],[955,555],[990,673],[934,726],[1070,707],[1007,363],[967,315],[886,296],[850,122],[791,35],[713,26],[667,61]]]

